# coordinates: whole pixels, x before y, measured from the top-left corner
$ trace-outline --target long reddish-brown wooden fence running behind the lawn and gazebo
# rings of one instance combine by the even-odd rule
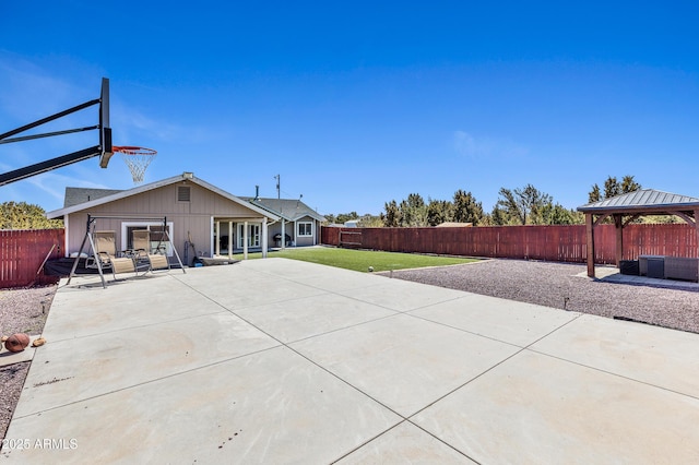
[[[500,259],[578,262],[587,260],[585,227],[574,226],[493,226],[455,228],[336,228],[323,227],[321,242],[346,243],[353,233],[354,246],[388,252],[435,253],[440,255],[487,257]],[[594,229],[595,263],[615,263],[614,225]],[[342,240],[341,240],[342,239]],[[694,226],[628,225],[624,228],[624,259],[638,255],[698,257]]]

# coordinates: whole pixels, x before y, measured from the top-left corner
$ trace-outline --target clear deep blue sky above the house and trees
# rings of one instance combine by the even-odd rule
[[[526,183],[566,207],[593,183],[699,196],[691,2],[1,2],[0,132],[111,88],[117,145],[238,195],[378,214],[416,192],[490,211]],[[94,124],[96,108],[44,131]],[[0,172],[97,144],[0,144]],[[128,189],[116,155],[0,187],[51,211]]]

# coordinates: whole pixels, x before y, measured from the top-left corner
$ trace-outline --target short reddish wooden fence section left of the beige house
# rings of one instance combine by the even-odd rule
[[[64,229],[0,230],[0,288],[57,283],[42,264],[63,257],[64,238]]]

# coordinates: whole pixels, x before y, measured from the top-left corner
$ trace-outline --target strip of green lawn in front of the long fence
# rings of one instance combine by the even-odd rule
[[[250,253],[248,258],[259,259],[261,253]],[[477,259],[461,259],[453,257],[418,255],[414,253],[375,252],[370,250],[323,248],[298,248],[271,251],[270,258],[301,260],[340,269],[368,272],[369,266],[375,272],[390,270],[418,269],[423,266],[446,266],[475,262]]]

